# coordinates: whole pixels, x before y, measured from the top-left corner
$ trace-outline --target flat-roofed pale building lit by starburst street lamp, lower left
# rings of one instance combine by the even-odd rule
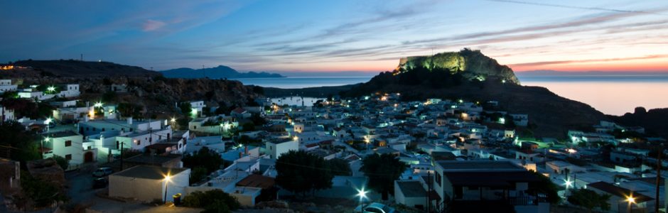
[[[168,177],[168,178],[167,178]],[[109,175],[109,197],[133,198],[144,202],[173,202],[173,195],[185,195],[189,168],[163,168],[137,165]]]

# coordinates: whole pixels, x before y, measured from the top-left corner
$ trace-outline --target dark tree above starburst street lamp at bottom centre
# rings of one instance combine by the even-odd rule
[[[391,154],[368,155],[362,159],[362,171],[369,178],[369,188],[380,192],[382,199],[387,200],[388,193],[394,193],[394,180],[408,168],[406,163]]]

